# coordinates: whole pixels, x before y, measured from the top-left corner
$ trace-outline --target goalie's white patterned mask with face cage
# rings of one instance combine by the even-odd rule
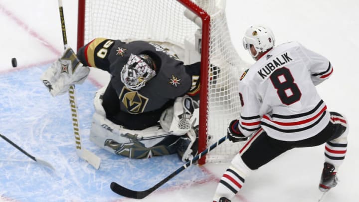
[[[150,56],[144,54],[131,54],[121,71],[121,81],[132,90],[141,89],[154,76],[156,76],[154,62]]]

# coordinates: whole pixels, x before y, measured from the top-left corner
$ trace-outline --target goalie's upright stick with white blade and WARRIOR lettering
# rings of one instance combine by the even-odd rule
[[[68,47],[67,45],[67,37],[66,37],[66,28],[65,28],[65,18],[63,15],[63,8],[62,8],[62,0],[58,0],[59,11],[60,11],[60,19],[61,19],[61,28],[62,28],[62,39],[64,48]],[[76,97],[75,97],[75,85],[70,86],[69,88],[69,99],[70,99],[70,107],[71,107],[71,116],[72,116],[72,126],[73,132],[75,135],[75,143],[76,143],[76,154],[81,159],[88,162],[91,166],[95,169],[99,169],[101,159],[96,156],[94,153],[88,151],[87,149],[81,146],[81,136],[79,130],[79,119],[77,118],[77,104],[76,104]]]

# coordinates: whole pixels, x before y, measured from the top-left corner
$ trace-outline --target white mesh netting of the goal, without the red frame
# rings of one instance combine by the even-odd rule
[[[226,135],[229,122],[239,117],[238,80],[248,64],[241,60],[232,45],[224,13],[225,1],[192,2],[210,15],[207,96],[210,144]],[[183,15],[185,10],[177,0],[86,0],[84,42],[95,37],[165,42],[162,45],[173,45],[179,58],[189,62],[186,56],[192,56],[193,52],[188,52],[185,41],[192,42],[194,50],[195,32],[199,27]],[[200,103],[205,101],[200,100]],[[231,160],[241,146],[224,142],[207,155],[207,161]]]

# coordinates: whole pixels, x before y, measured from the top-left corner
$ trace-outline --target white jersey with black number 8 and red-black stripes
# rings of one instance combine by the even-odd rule
[[[262,127],[283,141],[315,136],[330,120],[315,86],[332,72],[327,58],[298,42],[274,47],[241,77],[239,130],[248,136]]]

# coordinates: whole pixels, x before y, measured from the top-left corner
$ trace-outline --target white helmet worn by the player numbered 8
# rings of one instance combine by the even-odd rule
[[[275,38],[272,30],[265,26],[251,26],[247,29],[243,37],[243,47],[249,51],[254,59],[258,56],[258,53],[265,52],[272,48],[275,43]],[[254,46],[257,53],[253,55],[250,51],[250,44]]]

